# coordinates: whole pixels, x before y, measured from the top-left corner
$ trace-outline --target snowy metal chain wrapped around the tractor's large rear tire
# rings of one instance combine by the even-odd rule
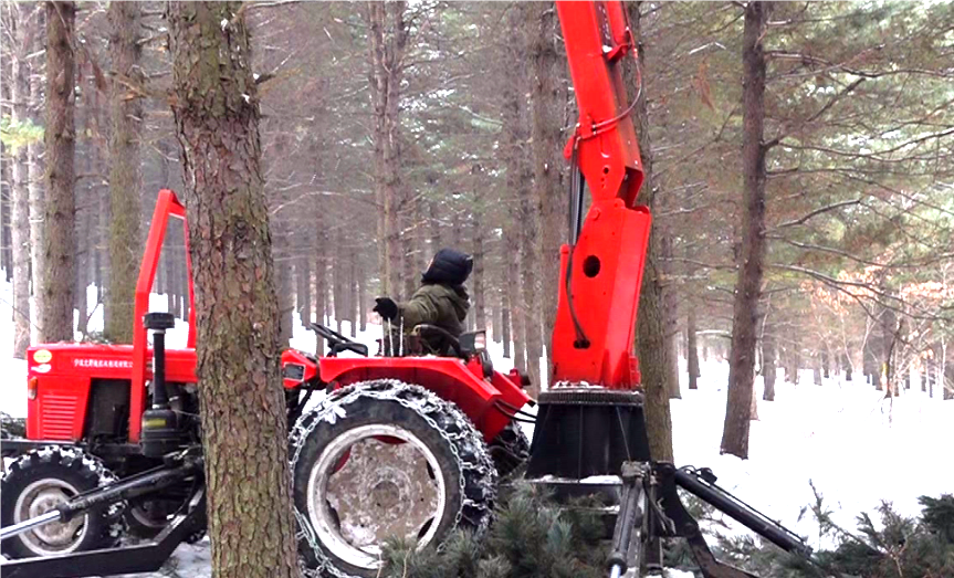
[[[434,392],[420,386],[412,386],[396,379],[378,379],[354,383],[333,391],[317,408],[298,418],[298,421],[292,429],[289,438],[289,453],[291,455],[290,465],[292,471],[294,472],[295,470],[295,464],[301,455],[302,445],[304,445],[305,440],[312,431],[314,431],[317,424],[322,421],[334,423],[334,421],[342,416],[340,412],[343,410],[347,411],[345,409],[346,406],[354,403],[359,399],[375,399],[379,401],[396,402],[417,413],[428,423],[428,425],[448,441],[448,445],[451,449],[451,452],[454,455],[454,461],[461,472],[460,492],[462,503],[461,508],[454,517],[452,528],[457,528],[460,525],[464,508],[471,507],[481,513],[480,521],[475,528],[475,534],[478,536],[483,535],[490,526],[491,514],[493,513],[493,505],[496,497],[496,467],[494,467],[493,460],[491,459],[486,446],[473,446],[473,440],[479,440],[480,444],[483,445],[483,435],[473,427],[466,416],[464,416],[457,406],[441,399]],[[434,419],[436,416],[450,418],[452,422],[449,424],[440,424]],[[472,453],[476,456],[478,463],[464,461],[458,452],[458,444],[463,444],[472,450]],[[474,502],[466,495],[465,473],[468,471],[476,471],[479,474],[490,476],[489,487],[481,488],[483,494],[482,503]],[[311,524],[307,522],[305,515],[298,512],[297,507],[294,507],[293,512],[298,525],[298,535],[296,538],[305,538],[308,543],[308,547],[312,548],[315,553],[315,557],[318,558],[317,568],[305,568],[304,561],[302,561],[301,566],[303,576],[308,578],[323,578],[325,576],[333,576],[335,578],[357,578],[343,572],[332,564],[318,546],[318,539],[312,530]]]

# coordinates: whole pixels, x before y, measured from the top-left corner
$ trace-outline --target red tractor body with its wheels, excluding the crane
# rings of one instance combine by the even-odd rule
[[[28,351],[27,439],[0,442],[4,456],[17,458],[0,480],[0,526],[161,467],[168,453],[201,442],[195,323],[186,349],[166,350],[171,316],[147,311],[167,223],[185,216],[171,191],[159,192],[133,345],[48,344]],[[156,332],[156,351],[146,325]],[[360,575],[376,566],[367,550],[384,536],[428,543],[459,523],[485,526],[497,476],[527,456],[530,444],[513,420],[530,400],[521,375],[493,369],[483,334],[454,339],[455,357],[368,357],[366,345],[312,328],[327,343],[325,357],[282,355],[295,503],[325,545],[311,561]],[[311,403],[329,392],[336,403]],[[112,547],[125,532],[153,538],[187,504],[192,482],[20,534],[0,550],[23,558]]]

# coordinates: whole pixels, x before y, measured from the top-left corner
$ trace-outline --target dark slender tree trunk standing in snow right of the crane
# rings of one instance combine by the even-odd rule
[[[722,452],[748,458],[749,412],[753,398],[756,325],[765,266],[765,53],[764,36],[772,0],[745,4],[743,31],[744,179],[742,251],[732,319],[728,360],[728,399],[722,433]]]

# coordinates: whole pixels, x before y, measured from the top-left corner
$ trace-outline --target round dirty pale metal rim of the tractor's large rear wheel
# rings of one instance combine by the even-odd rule
[[[308,517],[322,545],[365,569],[381,566],[387,537],[429,544],[447,507],[433,452],[398,425],[371,424],[325,446],[308,476]]]

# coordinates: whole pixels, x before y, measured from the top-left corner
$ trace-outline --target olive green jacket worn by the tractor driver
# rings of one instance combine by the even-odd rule
[[[410,333],[416,325],[437,325],[454,337],[464,330],[463,320],[470,309],[470,296],[462,285],[450,286],[427,284],[421,286],[411,298],[398,305],[403,319],[405,332]],[[433,350],[443,349],[443,339],[429,338]]]

